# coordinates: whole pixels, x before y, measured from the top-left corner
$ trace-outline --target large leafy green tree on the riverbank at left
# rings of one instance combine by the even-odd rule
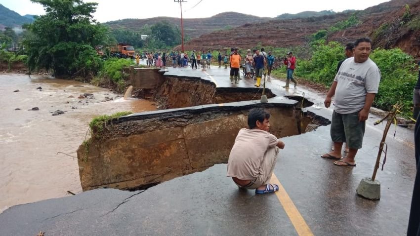
[[[23,41],[30,71],[51,69],[58,77],[94,75],[102,65],[94,47],[102,44],[107,34],[107,28],[92,17],[97,3],[31,1],[42,4],[46,14],[25,26],[32,33]]]

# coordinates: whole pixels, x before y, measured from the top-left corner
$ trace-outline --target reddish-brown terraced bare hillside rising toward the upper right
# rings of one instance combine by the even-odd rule
[[[408,16],[405,13],[406,4],[409,6]],[[343,25],[340,23],[350,17],[357,19],[357,24],[332,30],[332,27]],[[345,43],[360,37],[370,37],[374,39],[374,46],[398,46],[412,55],[419,56],[420,1],[391,0],[362,11],[243,24],[237,28],[215,31],[191,39],[185,43],[185,50],[217,50],[232,46],[246,49],[257,44],[293,47],[307,44],[311,36],[320,31],[328,32],[327,40]],[[175,49],[179,48],[180,46]]]

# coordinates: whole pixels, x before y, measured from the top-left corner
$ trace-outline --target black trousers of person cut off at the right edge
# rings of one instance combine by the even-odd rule
[[[419,120],[420,116],[417,117]],[[407,236],[420,236],[420,122],[416,123],[414,130],[414,144],[416,147],[417,174],[414,180],[413,199],[411,200],[410,218],[408,221]]]

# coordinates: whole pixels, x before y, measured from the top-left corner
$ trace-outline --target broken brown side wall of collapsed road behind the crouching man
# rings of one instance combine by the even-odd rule
[[[277,137],[299,134],[293,104],[211,106],[121,118],[95,129],[78,149],[82,188],[132,189],[226,163],[250,108],[271,114]],[[275,127],[275,128],[274,128]]]

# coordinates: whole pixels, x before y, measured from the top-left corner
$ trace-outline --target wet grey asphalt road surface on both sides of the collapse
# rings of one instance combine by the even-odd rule
[[[229,69],[213,67],[207,71],[210,76],[189,70],[169,69],[168,73],[231,86]],[[253,86],[253,80],[242,79],[236,86]],[[309,111],[331,118],[332,110],[323,108],[324,95],[300,87],[286,91],[282,86],[281,80],[267,82],[278,95],[304,92],[315,103]],[[373,172],[385,126],[373,126],[378,119],[371,115],[367,121],[355,167],[336,166],[320,157],[332,146],[329,125],[283,138],[286,148],[274,170],[286,191],[282,196],[238,190],[226,177],[226,165],[219,164],[145,191],[93,190],[15,206],[0,214],[0,235],[39,231],[51,235],[405,235],[416,171],[411,130],[396,127],[393,139],[390,129],[386,164],[377,175],[381,199],[356,195],[360,180]],[[294,206],[279,201],[285,195]],[[293,207],[297,216],[288,214]],[[296,224],[299,215],[301,221]],[[305,227],[309,233],[302,231]]]

